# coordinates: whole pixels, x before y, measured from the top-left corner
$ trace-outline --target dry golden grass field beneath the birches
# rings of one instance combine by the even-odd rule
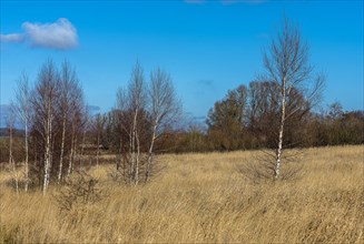
[[[105,193],[60,211],[57,190],[17,195],[1,172],[0,243],[364,243],[364,151],[308,150],[302,177],[253,183],[255,152],[164,155],[164,171],[127,187],[90,170]]]

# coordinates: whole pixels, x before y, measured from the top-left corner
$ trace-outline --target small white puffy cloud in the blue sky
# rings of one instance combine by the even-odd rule
[[[31,47],[50,49],[72,49],[78,45],[77,29],[65,18],[52,23],[21,24],[23,33],[1,34],[1,42],[27,42]]]

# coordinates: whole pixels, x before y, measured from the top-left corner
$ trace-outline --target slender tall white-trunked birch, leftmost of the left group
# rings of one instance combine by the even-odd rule
[[[28,191],[29,185],[29,125],[31,119],[31,106],[30,106],[30,88],[29,88],[29,78],[26,72],[22,72],[19,80],[18,87],[16,90],[16,101],[13,103],[13,111],[19,122],[21,123],[24,130],[24,149],[26,149],[26,159],[24,159],[24,191]]]

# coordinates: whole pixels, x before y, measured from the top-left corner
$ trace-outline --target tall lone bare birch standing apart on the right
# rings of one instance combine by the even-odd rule
[[[282,154],[284,146],[284,130],[286,121],[296,114],[302,108],[293,106],[287,110],[289,100],[296,94],[302,94],[308,106],[317,102],[324,77],[314,74],[313,67],[308,62],[308,44],[301,38],[299,29],[285,19],[282,30],[272,40],[269,49],[264,53],[264,67],[267,80],[279,87],[279,126],[276,160],[274,164],[274,177],[281,175]],[[299,128],[297,128],[299,130]]]

